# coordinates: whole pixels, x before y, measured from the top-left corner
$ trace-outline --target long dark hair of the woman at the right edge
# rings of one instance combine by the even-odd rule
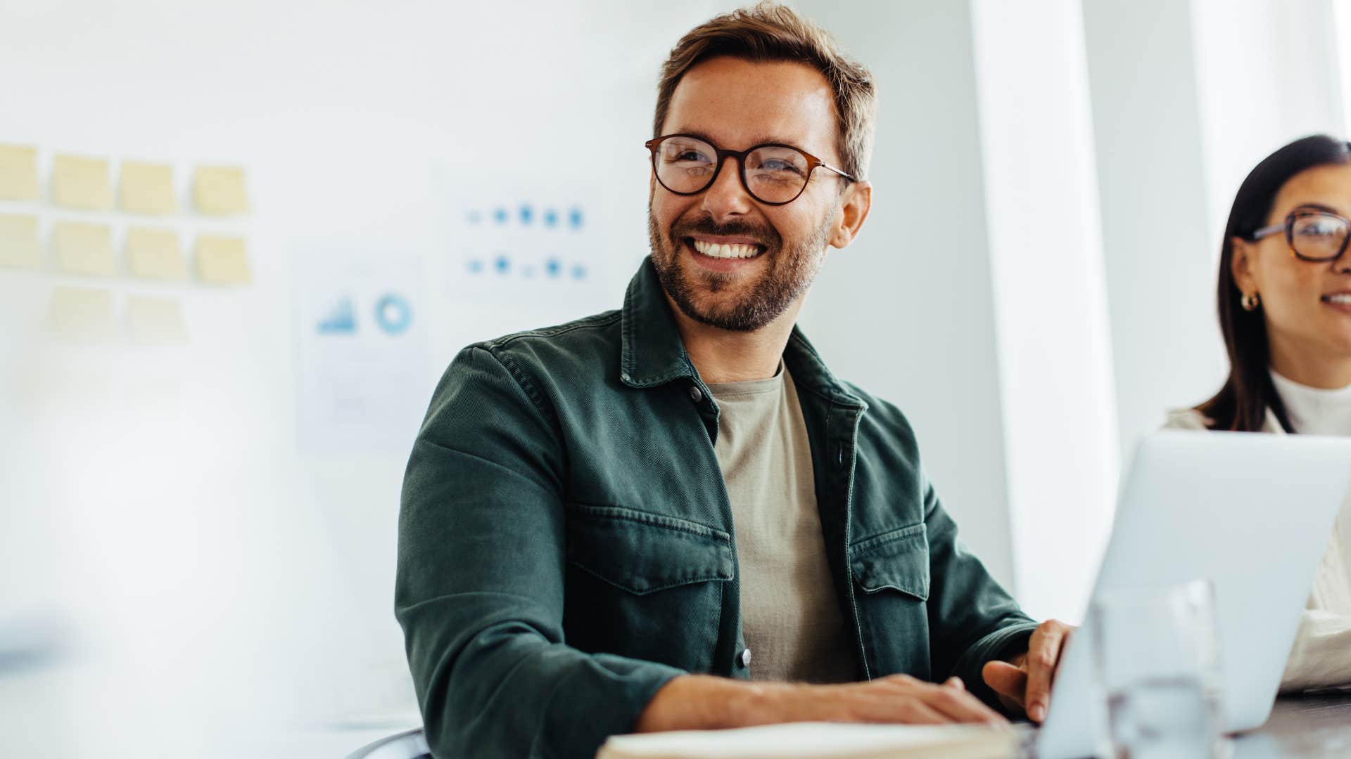
[[[1263,158],[1233,197],[1229,221],[1224,226],[1219,284],[1220,330],[1229,351],[1229,378],[1213,398],[1196,407],[1209,417],[1210,429],[1260,432],[1266,412],[1271,409],[1286,432],[1293,431],[1271,382],[1262,309],[1244,311],[1243,293],[1233,281],[1233,238],[1251,240],[1252,234],[1267,224],[1275,196],[1290,177],[1315,166],[1342,163],[1351,163],[1351,143],[1328,135],[1301,138]]]

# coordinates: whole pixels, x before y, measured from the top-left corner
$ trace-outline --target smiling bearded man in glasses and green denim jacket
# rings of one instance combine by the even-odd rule
[[[396,610],[434,751],[1042,720],[1069,628],[1019,610],[905,417],[794,328],[867,217],[870,74],[770,4],[662,73],[623,309],[465,348],[415,443]]]

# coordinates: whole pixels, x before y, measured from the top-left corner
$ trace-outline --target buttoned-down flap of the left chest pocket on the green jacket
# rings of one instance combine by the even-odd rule
[[[638,596],[732,579],[728,533],[620,506],[567,505],[567,562]]]

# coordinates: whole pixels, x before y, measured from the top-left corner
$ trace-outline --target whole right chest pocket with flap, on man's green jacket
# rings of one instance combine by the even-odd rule
[[[929,677],[929,555],[924,523],[850,547],[859,631],[871,677]]]

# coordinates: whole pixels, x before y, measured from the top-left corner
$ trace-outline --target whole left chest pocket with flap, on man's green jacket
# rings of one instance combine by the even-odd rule
[[[708,671],[732,574],[725,532],[620,506],[569,504],[566,643]]]

